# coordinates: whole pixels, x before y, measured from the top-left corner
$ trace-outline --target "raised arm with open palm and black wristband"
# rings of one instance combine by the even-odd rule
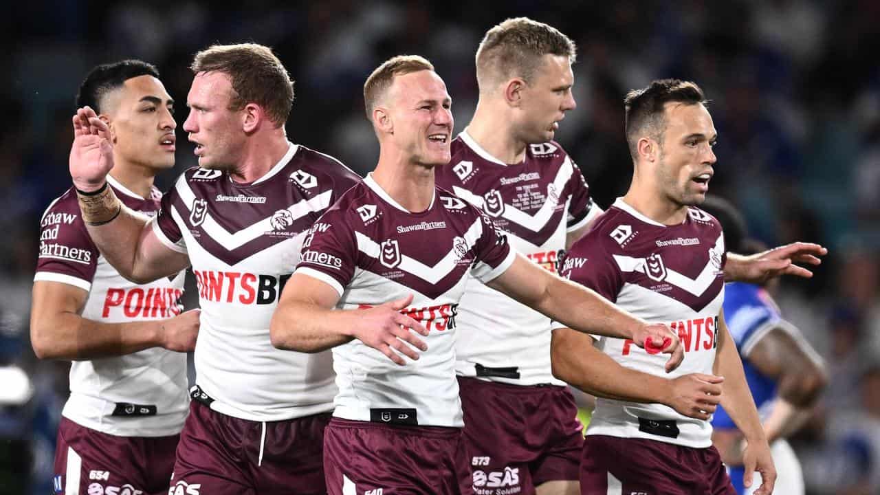
[[[159,241],[148,218],[128,209],[107,185],[106,175],[113,168],[113,144],[106,122],[92,108],[83,107],[73,117],[73,129],[70,177],[89,235],[107,262],[136,284],[187,268],[187,255]]]

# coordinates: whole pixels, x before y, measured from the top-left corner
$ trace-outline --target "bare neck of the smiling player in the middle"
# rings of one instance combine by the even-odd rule
[[[434,168],[409,163],[402,157],[389,157],[380,151],[373,180],[400,206],[413,213],[428,210],[434,199]]]

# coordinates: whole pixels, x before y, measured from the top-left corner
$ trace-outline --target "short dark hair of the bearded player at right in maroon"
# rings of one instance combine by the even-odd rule
[[[623,100],[626,108],[625,126],[629,154],[633,159],[639,155],[639,138],[646,134],[663,144],[666,130],[664,106],[669,102],[684,105],[706,105],[708,102],[700,86],[680,79],[657,79],[648,87],[627,93]]]

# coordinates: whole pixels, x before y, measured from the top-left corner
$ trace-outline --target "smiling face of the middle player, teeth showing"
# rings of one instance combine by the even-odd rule
[[[433,167],[451,160],[452,100],[433,70],[396,76],[385,96],[392,145],[411,163]]]

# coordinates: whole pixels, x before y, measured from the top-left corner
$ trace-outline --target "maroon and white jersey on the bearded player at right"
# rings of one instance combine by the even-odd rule
[[[622,366],[664,378],[712,373],[718,314],[724,299],[724,239],[721,225],[698,208],[685,222],[662,225],[618,199],[563,263],[561,276],[598,292],[621,309],[678,331],[685,360],[665,373],[666,354],[650,355],[632,341],[598,338],[599,348]],[[554,327],[558,324],[554,323]],[[641,418],[641,419],[640,419]],[[661,423],[657,423],[660,421]],[[678,428],[663,421],[674,421]],[[663,434],[656,433],[662,432]],[[709,447],[708,421],[684,417],[662,404],[598,398],[589,435],[659,440]]]

